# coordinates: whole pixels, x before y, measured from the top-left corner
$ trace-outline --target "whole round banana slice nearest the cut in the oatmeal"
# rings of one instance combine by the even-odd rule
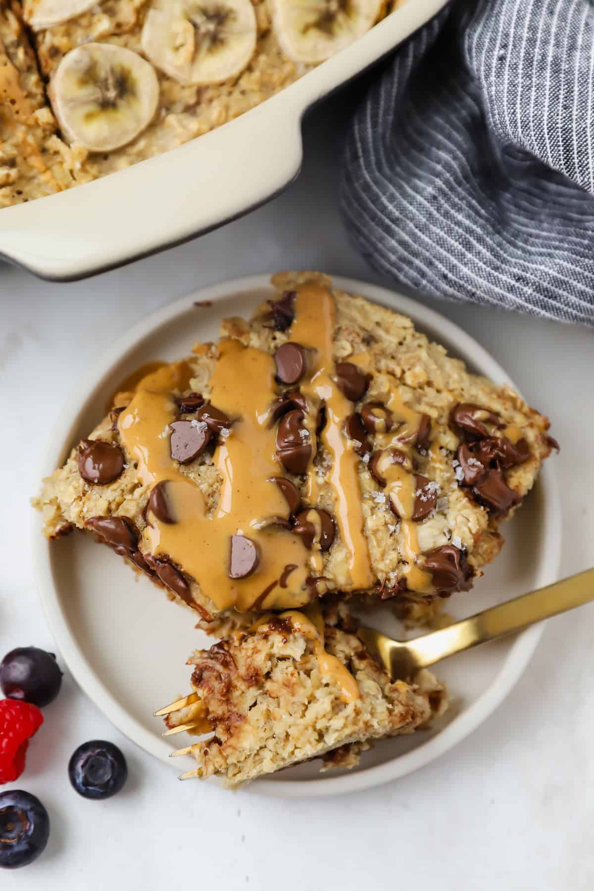
[[[113,151],[151,123],[159,81],[152,65],[132,50],[84,44],[66,53],[48,94],[69,142]]]

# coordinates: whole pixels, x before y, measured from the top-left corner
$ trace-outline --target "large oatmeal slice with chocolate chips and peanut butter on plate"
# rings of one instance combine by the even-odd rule
[[[45,534],[94,531],[210,627],[330,591],[468,590],[549,422],[326,276],[273,284],[250,322],[118,396],[45,480]]]

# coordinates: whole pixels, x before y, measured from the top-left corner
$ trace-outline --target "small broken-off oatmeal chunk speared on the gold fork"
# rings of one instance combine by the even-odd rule
[[[311,608],[310,608],[311,609]],[[191,656],[194,702],[170,729],[210,734],[183,752],[200,778],[237,786],[311,758],[353,767],[373,740],[411,733],[447,708],[443,684],[423,671],[391,683],[356,636],[344,604],[308,615],[268,615]]]

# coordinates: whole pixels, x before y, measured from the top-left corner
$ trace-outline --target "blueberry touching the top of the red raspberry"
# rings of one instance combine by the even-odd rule
[[[42,708],[60,692],[61,671],[53,653],[19,647],[0,662],[0,687],[8,699],[24,699]]]

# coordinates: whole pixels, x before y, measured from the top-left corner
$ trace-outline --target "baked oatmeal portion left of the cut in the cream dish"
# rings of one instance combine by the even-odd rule
[[[55,134],[20,4],[0,0],[0,208],[69,187]]]

